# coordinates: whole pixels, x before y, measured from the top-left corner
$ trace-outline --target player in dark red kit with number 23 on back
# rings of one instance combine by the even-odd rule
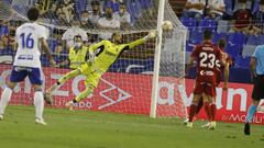
[[[216,86],[217,76],[216,69],[220,67],[222,60],[222,54],[218,46],[211,43],[211,32],[205,31],[204,43],[196,46],[190,56],[190,64],[187,67],[187,71],[197,61],[197,77],[196,86],[194,90],[194,100],[190,105],[189,121],[187,127],[193,127],[194,115],[196,114],[197,105],[200,99],[204,99],[205,110],[210,121],[210,128],[216,128]],[[210,106],[212,105],[212,106]]]

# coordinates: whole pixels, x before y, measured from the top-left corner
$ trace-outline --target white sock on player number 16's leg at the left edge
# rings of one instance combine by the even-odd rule
[[[0,114],[4,114],[4,110],[11,99],[11,95],[12,95],[12,90],[10,88],[6,88],[1,95]]]

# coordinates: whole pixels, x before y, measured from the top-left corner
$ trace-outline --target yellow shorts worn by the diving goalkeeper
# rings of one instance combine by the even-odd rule
[[[97,88],[103,72],[96,70],[89,62],[81,64],[78,68],[81,75],[86,76],[86,87],[92,86]]]

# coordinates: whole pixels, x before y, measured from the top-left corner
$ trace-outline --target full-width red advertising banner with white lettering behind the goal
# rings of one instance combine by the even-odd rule
[[[45,87],[54,84],[68,69],[43,68]],[[0,86],[4,83],[11,72],[10,65],[0,67]],[[54,93],[54,107],[64,107],[66,101],[72,100],[84,89],[84,76],[78,76]],[[160,96],[157,100],[158,116],[180,116],[186,114],[185,105],[189,106],[193,100],[194,80],[186,80],[186,89],[178,84],[179,80],[170,77],[163,77],[160,80]],[[217,88],[217,119],[223,122],[244,122],[246,109],[251,104],[252,84],[229,83],[229,89],[223,91],[221,86]],[[77,104],[79,110],[118,112],[125,114],[150,114],[152,77],[148,75],[131,75],[107,72],[100,79],[95,92],[86,100]],[[2,89],[0,90],[0,92]],[[29,79],[15,87],[12,95],[12,104],[32,105],[33,89]],[[260,109],[264,109],[262,102]],[[198,118],[206,118],[204,110]],[[254,123],[264,124],[263,112],[257,112]]]

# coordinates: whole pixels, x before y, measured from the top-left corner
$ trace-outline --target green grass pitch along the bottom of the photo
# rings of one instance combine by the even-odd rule
[[[0,148],[263,148],[264,127],[218,123],[216,130],[186,128],[180,119],[152,119],[88,111],[45,110],[47,126],[34,124],[32,106],[9,106],[0,121]]]

